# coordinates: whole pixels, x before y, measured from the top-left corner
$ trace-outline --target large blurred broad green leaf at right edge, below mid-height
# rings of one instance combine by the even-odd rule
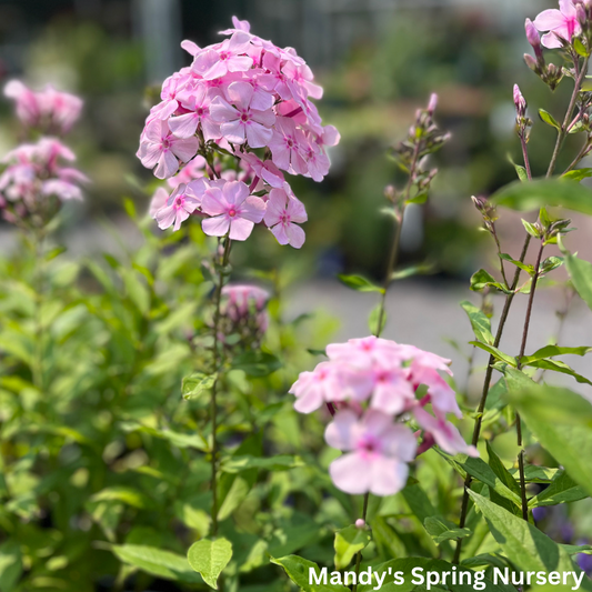
[[[533,381],[529,383],[530,379],[521,372],[512,369],[508,371],[510,372],[506,377],[510,397],[530,431],[541,445],[565,468],[568,474],[592,494],[592,464],[590,463],[592,429],[589,423],[592,417],[592,405],[576,393],[568,391],[570,393],[568,397],[564,392],[562,399],[555,402],[554,409],[560,412],[554,413],[551,421],[543,419],[541,415],[544,417],[546,403],[552,399],[553,391]],[[551,397],[545,394],[549,392]],[[542,403],[540,397],[544,398]]]

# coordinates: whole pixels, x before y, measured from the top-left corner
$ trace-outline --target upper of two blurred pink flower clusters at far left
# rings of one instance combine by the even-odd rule
[[[82,111],[82,99],[69,92],[61,92],[51,84],[33,91],[19,80],[11,80],[4,87],[4,96],[12,99],[17,117],[28,128],[43,133],[64,136],[76,123]]]

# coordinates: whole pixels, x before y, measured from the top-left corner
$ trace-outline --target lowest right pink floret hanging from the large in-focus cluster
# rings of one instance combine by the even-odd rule
[[[304,231],[297,225],[308,220],[304,205],[283,189],[272,189],[269,194],[264,221],[280,244],[300,249],[304,244]]]

